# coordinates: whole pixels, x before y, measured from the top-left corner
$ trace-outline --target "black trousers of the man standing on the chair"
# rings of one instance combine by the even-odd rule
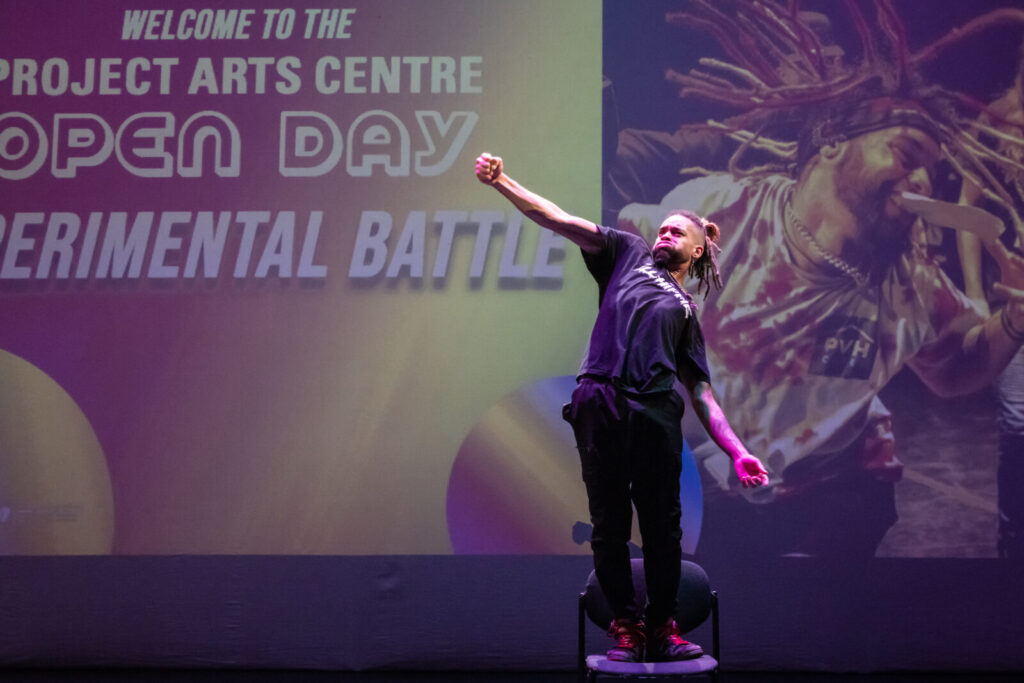
[[[649,624],[676,612],[682,550],[679,475],[683,403],[675,392],[639,396],[584,377],[563,416],[572,425],[594,526],[594,569],[615,618],[639,620],[628,543],[636,506]]]

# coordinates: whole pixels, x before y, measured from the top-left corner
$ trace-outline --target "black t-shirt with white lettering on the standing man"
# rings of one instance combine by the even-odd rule
[[[638,393],[710,381],[696,304],[668,270],[654,264],[638,236],[600,227],[604,248],[584,252],[597,281],[600,308],[580,375],[609,379]]]

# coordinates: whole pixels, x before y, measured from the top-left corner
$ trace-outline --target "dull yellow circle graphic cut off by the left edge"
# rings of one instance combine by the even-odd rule
[[[75,400],[0,350],[0,555],[105,554],[114,496],[99,440]]]

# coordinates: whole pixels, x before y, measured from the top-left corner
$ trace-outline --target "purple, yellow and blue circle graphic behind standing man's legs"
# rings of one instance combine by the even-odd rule
[[[488,409],[463,439],[447,487],[457,554],[590,553],[590,515],[572,428],[562,420],[575,379],[528,384]],[[700,480],[684,443],[679,479],[683,552],[700,533]],[[631,553],[639,554],[633,520]]]

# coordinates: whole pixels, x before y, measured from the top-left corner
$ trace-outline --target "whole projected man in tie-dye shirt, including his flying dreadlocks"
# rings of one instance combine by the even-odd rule
[[[676,206],[723,226],[726,276],[700,325],[715,393],[770,483],[743,490],[709,443],[691,442],[710,475],[701,557],[873,556],[898,519],[903,475],[880,394],[909,371],[935,395],[979,395],[1024,343],[1024,260],[995,239],[998,219],[947,196],[955,175],[1016,216],[1000,173],[1022,168],[1006,153],[1021,131],[988,125],[1004,140],[991,144],[979,134],[983,99],[942,83],[933,63],[995,28],[1019,39],[1024,11],[973,15],[914,49],[890,0],[806,9],[673,3],[664,26],[715,49],[667,82],[709,118],[673,134],[616,131],[605,163],[605,209],[621,228],[649,234]],[[665,180],[648,183],[645,162],[664,175],[673,159],[671,187],[651,190]],[[986,244],[997,312],[984,315],[925,252],[915,236],[929,225]]]

